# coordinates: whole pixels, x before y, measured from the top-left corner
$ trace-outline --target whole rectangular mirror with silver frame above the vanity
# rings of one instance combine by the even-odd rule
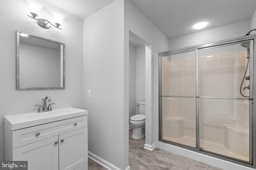
[[[64,89],[65,44],[16,30],[16,89]]]

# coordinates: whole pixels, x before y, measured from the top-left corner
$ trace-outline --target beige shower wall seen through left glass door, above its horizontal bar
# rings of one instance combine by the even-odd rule
[[[196,53],[162,57],[162,95],[196,96]]]

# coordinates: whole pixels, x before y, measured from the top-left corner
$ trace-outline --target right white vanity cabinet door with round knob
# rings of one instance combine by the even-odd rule
[[[88,162],[87,127],[59,135],[60,170],[74,170]]]

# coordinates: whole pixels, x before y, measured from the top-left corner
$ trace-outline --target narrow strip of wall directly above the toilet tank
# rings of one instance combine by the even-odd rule
[[[145,45],[136,47],[136,102],[145,102]]]

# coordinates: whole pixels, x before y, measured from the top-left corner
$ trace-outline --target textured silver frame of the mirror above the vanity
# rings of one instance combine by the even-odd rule
[[[63,87],[20,87],[20,33],[51,41],[63,45]],[[52,39],[33,35],[24,31],[16,30],[16,89],[17,90],[38,90],[38,89],[65,89],[65,44]]]

